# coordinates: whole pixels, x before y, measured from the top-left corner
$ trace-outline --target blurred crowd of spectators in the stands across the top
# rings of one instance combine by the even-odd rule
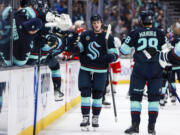
[[[66,0],[61,0],[59,3],[57,0],[56,2],[62,9],[67,9]],[[98,0],[91,0],[91,2],[98,5]],[[85,1],[73,0],[73,22],[86,20],[86,6]],[[110,0],[110,2],[104,0],[103,21],[105,24],[110,23],[113,35],[122,39],[124,35],[138,26],[138,13],[144,9],[154,12],[154,27],[163,29],[165,25],[164,11],[159,0]]]

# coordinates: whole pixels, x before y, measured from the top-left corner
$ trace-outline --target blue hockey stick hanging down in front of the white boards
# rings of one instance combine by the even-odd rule
[[[36,135],[36,124],[37,124],[37,107],[38,107],[38,88],[39,88],[39,77],[40,77],[40,56],[41,56],[41,49],[39,47],[39,56],[38,56],[38,64],[37,64],[37,72],[35,68],[34,79],[35,79],[35,86],[34,86],[34,94],[35,94],[35,102],[34,102],[34,125],[33,125],[33,135]]]

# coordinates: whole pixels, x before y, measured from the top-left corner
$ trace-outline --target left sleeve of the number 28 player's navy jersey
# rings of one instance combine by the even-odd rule
[[[123,44],[120,47],[120,52],[124,55],[131,53],[133,45],[135,44],[135,33],[134,31],[130,32],[129,35],[124,40]]]

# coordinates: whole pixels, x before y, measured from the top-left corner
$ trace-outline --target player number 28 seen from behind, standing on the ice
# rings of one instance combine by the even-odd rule
[[[131,122],[126,134],[139,133],[141,102],[144,86],[147,82],[148,93],[148,133],[155,134],[155,124],[159,111],[160,89],[162,87],[162,68],[159,64],[159,54],[166,43],[165,34],[152,27],[153,13],[142,11],[140,13],[141,27],[133,30],[122,44],[120,51],[123,54],[131,53],[135,48],[134,68],[130,80]],[[150,50],[150,51],[149,51]],[[150,55],[148,52],[152,53]]]

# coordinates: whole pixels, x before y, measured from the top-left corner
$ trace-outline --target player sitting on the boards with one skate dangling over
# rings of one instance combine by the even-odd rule
[[[62,101],[64,94],[61,91],[60,64],[56,60],[55,55],[60,54],[64,50],[64,43],[55,34],[41,33],[38,35],[38,37],[35,38],[34,44],[35,46],[29,56],[29,60],[27,64],[34,65],[38,62],[39,47],[40,47],[41,64],[46,64],[51,69],[52,81],[54,85],[55,101]],[[39,46],[39,44],[41,44],[41,46]]]

